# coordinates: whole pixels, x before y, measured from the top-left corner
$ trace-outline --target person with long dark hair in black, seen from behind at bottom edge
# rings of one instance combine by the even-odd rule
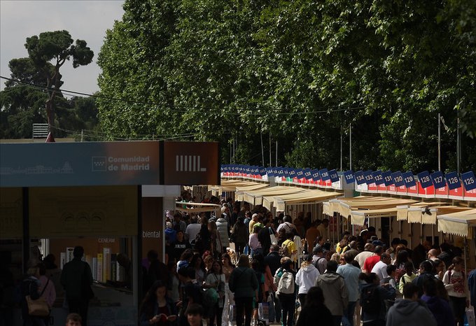
[[[315,325],[316,318],[319,320],[319,326],[334,325],[332,314],[324,304],[322,289],[314,286],[307,291],[306,302],[302,306],[296,326]]]

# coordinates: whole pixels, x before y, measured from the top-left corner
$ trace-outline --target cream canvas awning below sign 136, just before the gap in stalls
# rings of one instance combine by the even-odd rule
[[[285,211],[286,205],[313,203],[329,200],[331,198],[342,196],[340,192],[326,192],[323,190],[304,190],[295,194],[286,194],[276,197],[264,197],[263,206],[273,202],[277,211]],[[269,208],[268,208],[269,209]]]

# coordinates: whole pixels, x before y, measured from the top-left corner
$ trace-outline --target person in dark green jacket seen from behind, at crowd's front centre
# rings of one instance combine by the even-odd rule
[[[258,278],[250,268],[248,255],[239,256],[238,266],[230,275],[230,290],[235,294],[237,326],[250,326],[253,297],[255,297],[255,290],[258,290]]]

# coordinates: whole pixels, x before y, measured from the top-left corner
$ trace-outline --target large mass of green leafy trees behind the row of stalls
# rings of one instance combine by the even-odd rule
[[[109,139],[220,141],[222,161],[476,168],[476,8],[450,1],[126,0],[99,53]],[[458,129],[459,118],[459,129]],[[351,129],[349,129],[351,126]],[[233,150],[235,148],[235,150]]]

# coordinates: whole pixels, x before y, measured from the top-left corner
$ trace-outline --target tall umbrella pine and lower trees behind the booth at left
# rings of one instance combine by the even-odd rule
[[[11,59],[11,78],[0,92],[1,138],[31,138],[32,124],[48,121],[51,134],[71,136],[72,131],[95,129],[94,99],[64,99],[59,73],[69,59],[73,67],[92,62],[93,52],[85,41],[73,39],[68,31],[47,31],[27,38],[29,57]]]

